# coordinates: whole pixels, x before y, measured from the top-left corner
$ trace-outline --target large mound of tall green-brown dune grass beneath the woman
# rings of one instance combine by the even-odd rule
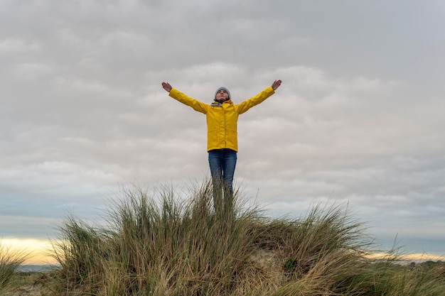
[[[54,243],[57,294],[445,295],[444,270],[370,259],[372,239],[341,207],[269,219],[236,196],[218,212],[212,200],[210,183],[188,199],[131,187],[104,226],[68,216]]]

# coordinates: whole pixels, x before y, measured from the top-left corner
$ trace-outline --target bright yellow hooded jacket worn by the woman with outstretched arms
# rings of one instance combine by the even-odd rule
[[[262,92],[240,104],[233,104],[231,100],[222,104],[213,102],[205,104],[171,89],[169,96],[179,102],[191,106],[195,111],[205,114],[207,117],[207,150],[229,148],[238,150],[237,121],[240,114],[245,113],[253,106],[263,102],[274,94],[272,87],[267,87]]]

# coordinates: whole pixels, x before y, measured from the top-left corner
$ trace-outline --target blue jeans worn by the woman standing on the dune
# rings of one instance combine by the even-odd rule
[[[213,205],[215,209],[223,204],[231,206],[237,153],[227,148],[210,150],[208,151],[208,163],[213,180]],[[224,190],[224,195],[222,190]]]

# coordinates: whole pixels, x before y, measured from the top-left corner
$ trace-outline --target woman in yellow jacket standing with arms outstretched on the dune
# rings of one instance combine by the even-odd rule
[[[179,92],[168,82],[162,82],[163,89],[169,93],[170,97],[191,106],[195,111],[205,114],[207,118],[208,163],[213,179],[215,209],[218,209],[222,203],[227,206],[232,204],[232,183],[238,151],[238,116],[272,96],[281,84],[281,80],[275,80],[270,87],[240,104],[233,104],[229,90],[220,87],[215,92],[214,102],[205,104]],[[225,202],[223,202],[221,190],[218,190],[221,186],[228,193],[224,194]]]

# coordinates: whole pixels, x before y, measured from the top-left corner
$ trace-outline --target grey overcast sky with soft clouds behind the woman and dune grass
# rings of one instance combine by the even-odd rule
[[[1,0],[0,237],[48,239],[119,185],[208,178],[236,103],[235,183],[271,216],[348,205],[384,248],[445,255],[445,2]]]

